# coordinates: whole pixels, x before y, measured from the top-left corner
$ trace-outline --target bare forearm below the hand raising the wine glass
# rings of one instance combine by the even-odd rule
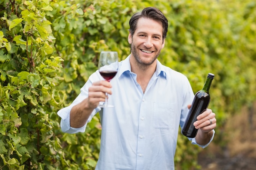
[[[70,111],[70,127],[81,128],[84,126],[94,108],[88,105],[88,98],[73,106]]]

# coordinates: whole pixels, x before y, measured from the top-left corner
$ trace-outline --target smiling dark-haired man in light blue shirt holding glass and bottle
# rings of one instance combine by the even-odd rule
[[[174,170],[178,129],[194,94],[184,75],[157,60],[167,28],[159,9],[135,13],[128,35],[131,54],[119,62],[117,75],[107,82],[99,71],[93,73],[74,102],[58,111],[61,128],[69,133],[84,132],[99,112],[102,132],[96,170]],[[106,93],[114,108],[98,107]],[[213,139],[215,114],[207,109],[194,125],[198,134],[189,140],[204,148]]]

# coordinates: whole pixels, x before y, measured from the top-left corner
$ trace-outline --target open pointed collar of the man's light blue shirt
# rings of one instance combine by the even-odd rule
[[[119,73],[118,73],[118,78],[126,71],[131,71],[131,66],[130,66],[130,55],[123,61],[120,62],[119,65]],[[155,75],[158,76],[163,76],[166,79],[166,72],[164,70],[164,66],[157,60],[157,68],[155,71]]]

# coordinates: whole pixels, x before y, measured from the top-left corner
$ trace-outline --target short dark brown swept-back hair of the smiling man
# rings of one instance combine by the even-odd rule
[[[132,18],[130,19],[130,34],[133,35],[135,30],[137,29],[137,22],[139,18],[149,18],[155,21],[162,22],[163,26],[163,39],[166,38],[166,34],[168,31],[168,20],[164,16],[164,14],[155,7],[147,7],[144,8],[141,12],[135,13],[132,15]]]

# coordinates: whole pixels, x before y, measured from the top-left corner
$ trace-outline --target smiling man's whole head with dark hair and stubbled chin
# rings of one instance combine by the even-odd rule
[[[154,7],[135,13],[130,19],[128,42],[131,44],[130,62],[140,68],[156,66],[156,59],[164,48],[168,21]]]

